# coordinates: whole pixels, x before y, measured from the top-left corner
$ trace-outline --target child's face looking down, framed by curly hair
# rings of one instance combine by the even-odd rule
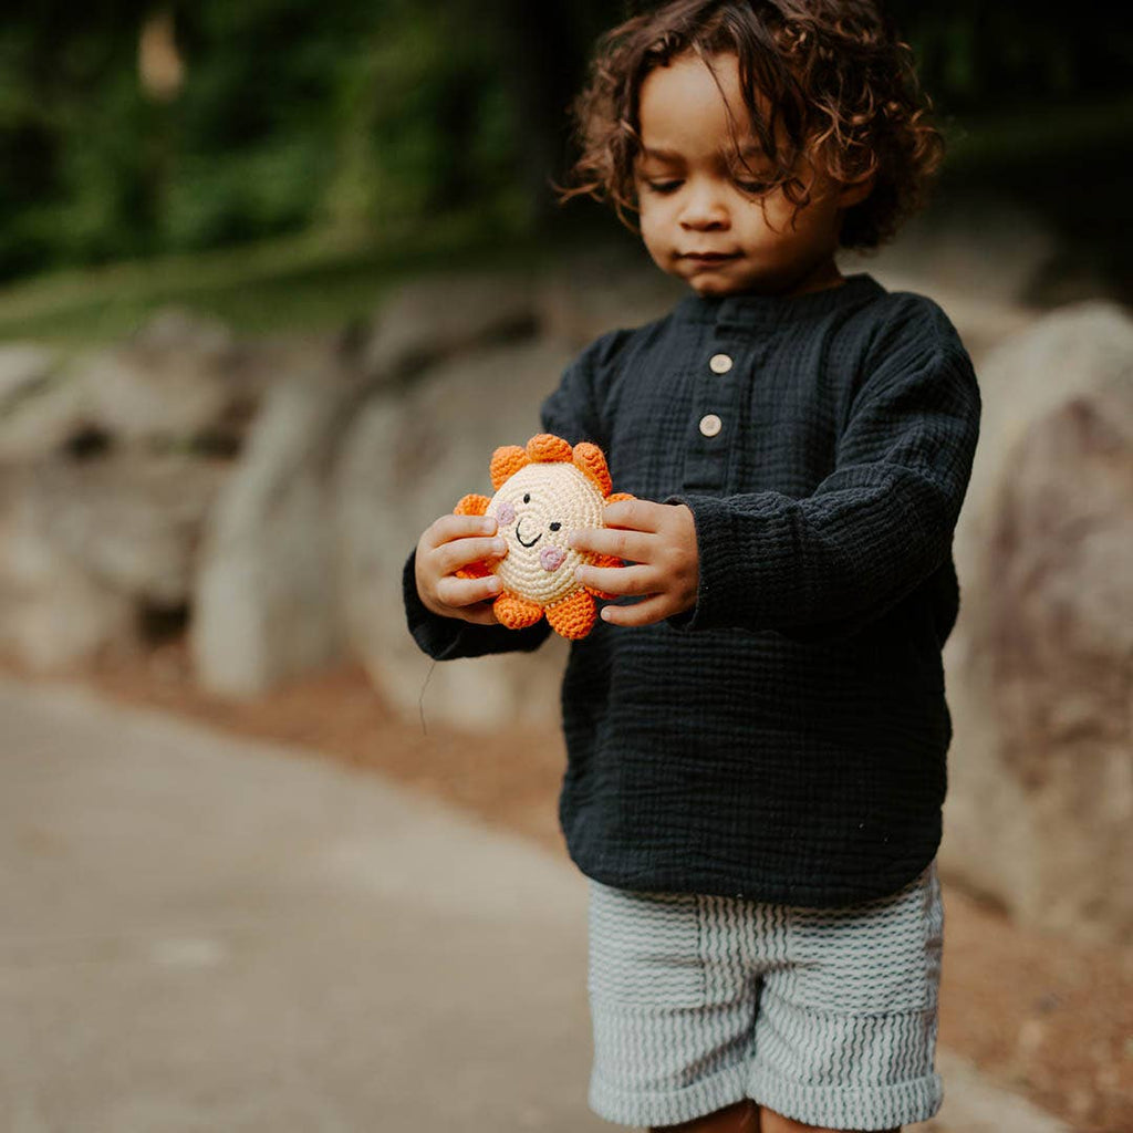
[[[843,211],[864,199],[870,185],[840,186],[801,168],[811,202],[794,214],[782,188],[767,193],[758,182],[766,159],[743,104],[736,58],[716,56],[713,67],[718,86],[692,54],[657,67],[641,84],[634,173],[649,254],[706,296],[834,286]],[[736,143],[750,169],[740,163]]]

